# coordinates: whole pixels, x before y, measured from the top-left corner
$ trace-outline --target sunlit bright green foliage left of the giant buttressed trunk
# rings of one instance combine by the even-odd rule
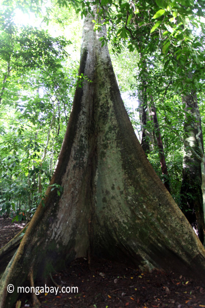
[[[48,185],[72,107],[70,41],[0,18],[0,215],[29,219]],[[57,192],[58,193],[58,192]]]

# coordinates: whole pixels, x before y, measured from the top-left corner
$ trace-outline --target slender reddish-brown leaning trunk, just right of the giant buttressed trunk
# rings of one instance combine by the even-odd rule
[[[167,164],[166,164],[166,159],[165,159],[165,151],[163,150],[163,143],[161,140],[161,133],[160,133],[160,128],[159,128],[159,123],[157,119],[157,113],[156,113],[156,108],[154,106],[153,98],[151,98],[151,113],[152,113],[152,119],[155,127],[155,136],[157,140],[157,147],[159,149],[159,161],[160,161],[160,166],[161,166],[161,172],[163,176],[163,184],[167,188],[167,190],[170,192],[170,181],[169,181],[169,174],[167,170]]]

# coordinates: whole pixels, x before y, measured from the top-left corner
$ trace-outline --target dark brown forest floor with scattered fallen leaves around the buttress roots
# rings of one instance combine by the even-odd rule
[[[0,247],[22,227],[0,218]],[[38,299],[42,308],[199,308],[205,307],[204,283],[175,273],[142,272],[107,260],[91,260],[89,268],[87,260],[80,258],[54,274],[53,282],[49,278],[46,286],[50,292],[44,290]],[[64,288],[57,290],[57,284]],[[37,286],[42,289],[45,284],[36,282]],[[32,307],[28,295],[24,293],[18,307]]]

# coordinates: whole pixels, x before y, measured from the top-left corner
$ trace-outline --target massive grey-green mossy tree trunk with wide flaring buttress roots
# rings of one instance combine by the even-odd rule
[[[0,306],[10,308],[17,286],[46,277],[87,255],[147,269],[205,275],[205,251],[156,176],[122,103],[108,47],[84,24],[79,74],[65,139],[51,184],[1,280]],[[92,259],[91,259],[92,260]],[[14,292],[7,293],[7,285]]]

